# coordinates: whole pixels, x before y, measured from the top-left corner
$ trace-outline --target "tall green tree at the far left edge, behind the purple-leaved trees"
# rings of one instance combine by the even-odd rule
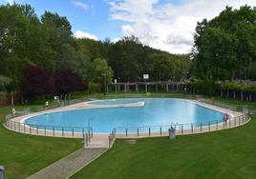
[[[0,71],[18,89],[22,70],[31,65],[53,69],[48,33],[29,5],[0,6]]]

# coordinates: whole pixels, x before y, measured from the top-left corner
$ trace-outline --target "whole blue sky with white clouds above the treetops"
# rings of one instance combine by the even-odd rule
[[[1,4],[12,0],[0,0]],[[198,21],[213,18],[225,6],[256,6],[256,0],[16,0],[67,16],[77,38],[117,41],[135,35],[153,48],[189,52]]]

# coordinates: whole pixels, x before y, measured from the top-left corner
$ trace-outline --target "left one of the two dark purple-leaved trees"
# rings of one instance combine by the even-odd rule
[[[23,94],[30,96],[53,94],[53,73],[34,66],[25,68],[22,72],[21,89]]]

